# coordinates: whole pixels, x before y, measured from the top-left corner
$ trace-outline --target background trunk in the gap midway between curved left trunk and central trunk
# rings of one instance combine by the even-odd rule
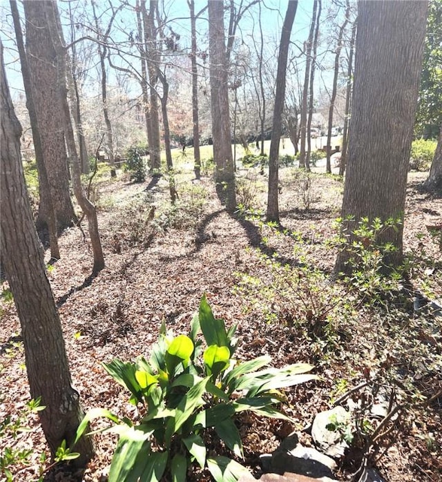
[[[151,125],[151,139],[149,142],[149,155],[151,157],[151,169],[155,173],[160,173],[161,157],[160,157],[160,119],[158,116],[158,94],[156,85],[157,77],[157,34],[155,30],[154,15],[157,6],[157,0],[151,0],[149,3],[149,12],[146,10],[146,0],[141,1],[141,12],[144,27],[144,51],[146,52],[146,63],[149,77],[150,88],[150,109],[149,122]]]

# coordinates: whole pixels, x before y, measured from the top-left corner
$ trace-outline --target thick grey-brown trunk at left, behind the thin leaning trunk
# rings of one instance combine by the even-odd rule
[[[70,199],[68,160],[64,144],[61,106],[57,90],[57,68],[54,64],[55,52],[48,35],[44,16],[44,5],[48,0],[26,0],[23,2],[26,17],[26,54],[33,86],[32,97],[35,104],[37,122],[41,137],[41,148],[50,184],[58,229],[72,226],[77,220]],[[42,86],[37,88],[37,86]],[[41,175],[39,177],[41,181]],[[48,223],[48,206],[44,196],[40,200],[37,226]]]

